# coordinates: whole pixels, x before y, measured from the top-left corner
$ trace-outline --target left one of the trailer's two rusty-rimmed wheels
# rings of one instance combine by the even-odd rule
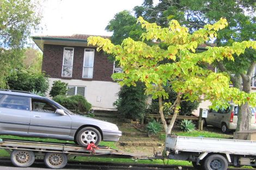
[[[29,167],[35,161],[35,154],[30,150],[13,150],[11,162],[16,167]]]

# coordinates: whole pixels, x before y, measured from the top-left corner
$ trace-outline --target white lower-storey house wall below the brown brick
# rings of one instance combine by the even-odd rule
[[[112,81],[84,81],[76,79],[56,79],[49,78],[49,91],[51,90],[53,81],[60,80],[68,83],[70,86],[86,86],[85,97],[93,108],[114,109],[113,103],[118,99],[120,85]]]

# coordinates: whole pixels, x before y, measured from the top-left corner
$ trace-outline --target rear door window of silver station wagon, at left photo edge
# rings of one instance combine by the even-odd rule
[[[5,97],[1,99],[0,107],[8,109],[29,110],[29,103],[29,97],[5,95]]]

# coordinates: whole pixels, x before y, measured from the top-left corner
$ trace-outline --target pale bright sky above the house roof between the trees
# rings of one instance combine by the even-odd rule
[[[105,30],[114,15],[132,10],[143,0],[43,0],[42,29],[34,35],[108,35]]]

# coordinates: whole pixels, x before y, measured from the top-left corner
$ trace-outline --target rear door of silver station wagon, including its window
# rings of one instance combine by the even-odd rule
[[[27,134],[31,111],[29,97],[0,95],[0,131]],[[3,134],[2,133],[2,134]]]

